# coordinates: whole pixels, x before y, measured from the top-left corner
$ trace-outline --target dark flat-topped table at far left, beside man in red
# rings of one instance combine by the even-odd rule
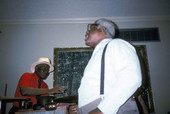
[[[17,98],[17,97],[4,97],[0,96],[0,114],[6,114],[6,104],[10,102],[19,102],[22,107],[25,102],[29,101],[29,98]]]

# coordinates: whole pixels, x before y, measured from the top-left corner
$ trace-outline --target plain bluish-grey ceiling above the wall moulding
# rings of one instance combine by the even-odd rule
[[[0,0],[0,20],[170,16],[170,0]]]

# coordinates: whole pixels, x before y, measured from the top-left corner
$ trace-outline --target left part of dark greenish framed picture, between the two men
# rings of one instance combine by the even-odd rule
[[[87,65],[93,49],[82,48],[55,48],[54,49],[54,84],[67,89],[59,97],[77,95],[85,66]]]

